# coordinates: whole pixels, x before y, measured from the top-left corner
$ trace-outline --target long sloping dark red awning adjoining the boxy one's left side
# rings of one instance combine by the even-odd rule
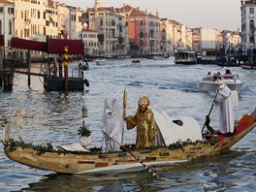
[[[47,52],[48,45],[46,42],[39,42],[33,40],[24,40],[19,38],[11,39],[12,48],[30,49]]]

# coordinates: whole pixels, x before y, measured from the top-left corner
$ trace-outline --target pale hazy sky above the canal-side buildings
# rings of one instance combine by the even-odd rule
[[[95,0],[54,0],[85,10]],[[160,17],[175,19],[189,28],[205,27],[218,30],[240,29],[240,0],[102,0],[102,7],[120,8],[123,4],[140,7]]]

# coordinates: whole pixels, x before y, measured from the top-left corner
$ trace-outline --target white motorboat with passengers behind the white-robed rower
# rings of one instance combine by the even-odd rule
[[[215,78],[216,77],[214,76],[203,78],[199,82],[200,89],[215,92],[220,86],[219,80],[223,80],[231,90],[237,90],[239,92],[243,84],[243,82],[240,80],[239,75],[237,74],[236,75],[220,75],[217,77],[218,80],[215,80]]]

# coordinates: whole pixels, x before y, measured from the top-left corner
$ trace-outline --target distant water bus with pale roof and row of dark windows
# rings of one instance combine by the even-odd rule
[[[176,64],[197,64],[197,53],[196,51],[177,51],[175,53]]]

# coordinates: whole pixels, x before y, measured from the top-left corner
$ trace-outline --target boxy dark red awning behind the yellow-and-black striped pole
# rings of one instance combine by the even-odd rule
[[[81,40],[48,39],[48,53],[63,54],[64,47],[68,47],[69,54],[84,54]]]

